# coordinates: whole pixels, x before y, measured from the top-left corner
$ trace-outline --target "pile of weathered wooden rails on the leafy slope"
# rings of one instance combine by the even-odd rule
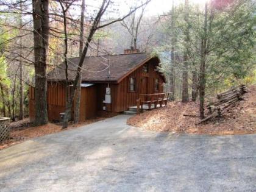
[[[239,85],[217,95],[218,101],[207,105],[209,114],[206,118],[199,121],[198,124],[208,121],[208,119],[221,117],[229,108],[233,107],[236,102],[243,100],[243,94],[247,93],[245,85]]]

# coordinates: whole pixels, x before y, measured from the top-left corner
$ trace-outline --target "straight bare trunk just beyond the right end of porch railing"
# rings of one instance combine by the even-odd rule
[[[188,102],[188,41],[189,41],[189,29],[188,29],[188,0],[185,0],[185,51],[183,55],[183,72],[182,72],[182,102]]]

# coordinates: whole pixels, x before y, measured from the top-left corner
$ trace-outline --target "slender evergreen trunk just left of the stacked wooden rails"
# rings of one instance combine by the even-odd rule
[[[205,14],[204,14],[204,35],[201,41],[201,65],[200,65],[200,80],[199,80],[199,111],[200,118],[204,119],[204,96],[205,96],[205,57],[206,57],[206,42],[207,42],[207,12],[208,5],[205,2]]]

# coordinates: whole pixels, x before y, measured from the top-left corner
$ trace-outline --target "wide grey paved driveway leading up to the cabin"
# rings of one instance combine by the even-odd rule
[[[256,135],[150,132],[128,117],[0,151],[0,191],[256,191]]]

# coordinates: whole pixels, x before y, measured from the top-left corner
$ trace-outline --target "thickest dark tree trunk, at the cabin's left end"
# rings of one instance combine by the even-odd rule
[[[46,55],[49,35],[48,1],[33,0],[35,56],[35,126],[48,123]]]

